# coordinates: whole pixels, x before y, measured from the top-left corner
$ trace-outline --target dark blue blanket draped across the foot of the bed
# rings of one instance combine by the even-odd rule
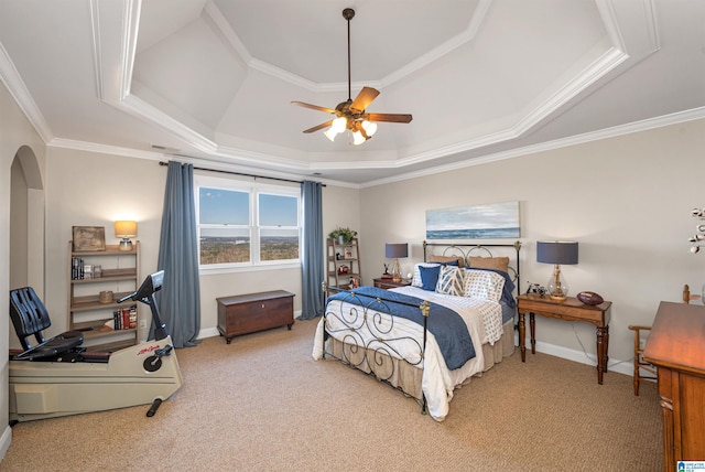
[[[340,300],[361,307],[369,307],[380,312],[382,308],[386,308],[384,312],[391,312],[390,314],[405,318],[423,326],[423,314],[419,309],[423,300],[420,298],[376,287],[360,287],[354,289],[352,292],[357,297],[350,297],[348,292],[339,292],[329,297],[328,300]],[[382,299],[382,303],[377,302],[377,298]],[[409,303],[409,305],[402,303]],[[463,366],[463,364],[475,357],[475,347],[465,321],[449,308],[432,302],[429,302],[429,304],[431,307],[429,331],[436,339],[448,369],[453,371]]]

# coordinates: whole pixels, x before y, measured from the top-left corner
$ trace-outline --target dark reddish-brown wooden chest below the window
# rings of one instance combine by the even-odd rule
[[[221,297],[218,331],[230,344],[232,337],[294,324],[294,294],[284,290]]]

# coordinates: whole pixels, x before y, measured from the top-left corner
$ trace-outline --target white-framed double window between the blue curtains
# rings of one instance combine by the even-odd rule
[[[196,179],[202,268],[300,261],[297,187]]]

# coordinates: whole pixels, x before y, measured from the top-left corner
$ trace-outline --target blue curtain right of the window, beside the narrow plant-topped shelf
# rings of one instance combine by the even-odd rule
[[[311,320],[323,315],[324,293],[321,283],[325,277],[323,257],[323,205],[319,182],[301,183],[301,196],[304,207],[302,270],[302,320]]]

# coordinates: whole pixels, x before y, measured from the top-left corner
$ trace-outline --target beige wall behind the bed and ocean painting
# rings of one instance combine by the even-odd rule
[[[381,273],[391,239],[412,247],[404,273],[422,260],[426,210],[519,201],[521,289],[545,286],[552,272],[535,261],[536,240],[577,240],[578,265],[563,272],[573,294],[593,290],[614,302],[609,356],[629,373],[627,326],[650,324],[660,300],[680,301],[683,283],[699,292],[705,282],[705,256],[687,243],[698,223],[691,208],[705,206],[704,151],[699,120],[364,189],[364,275]],[[538,318],[540,350],[592,363],[581,343],[594,360],[593,325]]]

